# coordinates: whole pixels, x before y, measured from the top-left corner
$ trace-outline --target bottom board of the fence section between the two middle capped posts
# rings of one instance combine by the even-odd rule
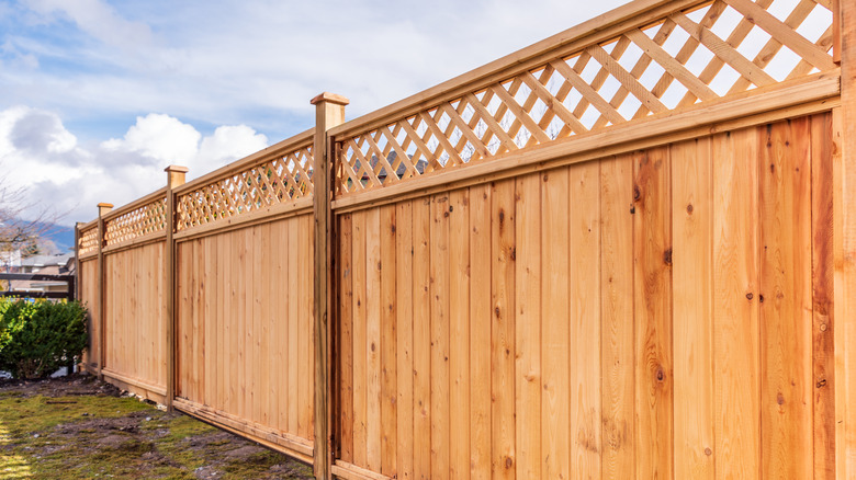
[[[304,438],[247,422],[246,420],[206,408],[183,398],[173,399],[172,407],[182,413],[198,418],[218,428],[249,438],[252,442],[260,443],[301,461],[312,464],[314,448],[312,444]]]

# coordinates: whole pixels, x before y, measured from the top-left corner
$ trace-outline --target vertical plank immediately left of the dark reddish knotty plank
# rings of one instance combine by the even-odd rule
[[[601,471],[610,479],[637,478],[632,190],[631,155],[600,161]]]

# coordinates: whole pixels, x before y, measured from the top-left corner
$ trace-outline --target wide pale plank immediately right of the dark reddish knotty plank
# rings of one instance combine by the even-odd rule
[[[710,138],[672,146],[676,478],[714,475],[710,152]]]

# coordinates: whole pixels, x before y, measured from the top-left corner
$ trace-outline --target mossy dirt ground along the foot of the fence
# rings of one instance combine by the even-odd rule
[[[311,479],[312,469],[89,375],[0,380],[0,479]]]

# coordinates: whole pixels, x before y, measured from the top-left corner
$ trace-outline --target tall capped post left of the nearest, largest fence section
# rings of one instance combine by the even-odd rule
[[[345,105],[348,99],[333,93],[322,93],[312,99],[315,105],[315,141],[313,157],[315,169],[314,212],[315,212],[315,335],[313,336],[315,355],[315,478],[329,479],[333,465],[333,444],[330,424],[330,312],[334,295],[334,222],[330,202],[333,199],[333,145],[327,130],[345,122]]]

